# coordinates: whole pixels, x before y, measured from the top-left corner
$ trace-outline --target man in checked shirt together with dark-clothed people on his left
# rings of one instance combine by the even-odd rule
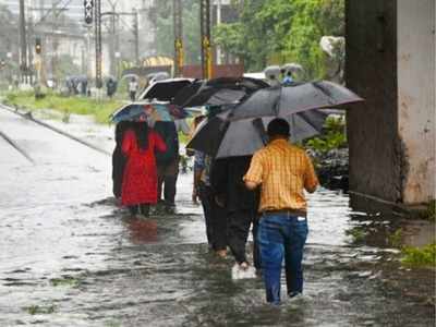
[[[286,120],[272,120],[267,134],[268,144],[253,156],[214,159],[195,152],[193,199],[202,202],[210,249],[226,257],[229,247],[242,270],[250,266],[245,246],[252,228],[254,267],[267,302],[279,304],[283,259],[288,295],[303,292],[304,190],[314,192],[318,180],[306,153],[289,143]]]

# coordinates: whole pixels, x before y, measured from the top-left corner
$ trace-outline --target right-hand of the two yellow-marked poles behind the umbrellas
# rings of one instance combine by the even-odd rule
[[[199,2],[199,24],[202,35],[202,72],[203,78],[211,78],[211,44],[210,44],[210,0]]]

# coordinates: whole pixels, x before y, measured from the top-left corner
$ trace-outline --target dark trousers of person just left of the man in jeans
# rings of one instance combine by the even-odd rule
[[[229,247],[238,264],[246,262],[245,245],[250,233],[250,227],[256,213],[251,209],[231,211],[228,214],[228,241]]]

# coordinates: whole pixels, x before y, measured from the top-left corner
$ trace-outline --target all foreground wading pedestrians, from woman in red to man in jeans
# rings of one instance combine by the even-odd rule
[[[197,117],[197,125],[204,117]],[[253,265],[265,281],[267,302],[280,303],[280,275],[284,259],[288,295],[303,291],[303,247],[307,237],[306,199],[318,185],[306,153],[289,143],[290,126],[274,119],[268,143],[253,156],[216,159],[194,155],[193,201],[201,201],[209,247],[227,257],[230,250],[238,268],[251,265],[246,256],[253,233]],[[179,173],[179,138],[174,122],[144,119],[116,128],[113,194],[132,216],[149,215],[160,197],[174,206]],[[161,195],[161,193],[164,193]]]

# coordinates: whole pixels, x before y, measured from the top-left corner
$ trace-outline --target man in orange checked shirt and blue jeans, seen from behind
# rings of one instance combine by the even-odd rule
[[[283,257],[288,295],[303,292],[302,259],[307,237],[304,190],[315,192],[318,179],[306,153],[288,142],[286,120],[272,120],[268,136],[268,145],[254,154],[244,182],[250,190],[261,186],[257,239],[262,272],[267,302],[278,305]]]

